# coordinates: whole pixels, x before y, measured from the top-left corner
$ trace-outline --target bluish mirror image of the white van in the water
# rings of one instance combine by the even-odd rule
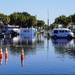
[[[74,46],[74,39],[67,40],[67,39],[52,39],[52,43],[57,48],[73,48]]]

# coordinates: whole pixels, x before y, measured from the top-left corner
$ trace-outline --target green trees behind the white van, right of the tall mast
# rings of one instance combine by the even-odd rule
[[[59,16],[55,19],[54,23],[49,26],[50,29],[58,27],[58,24],[61,24],[63,27],[75,25],[75,14],[66,17],[65,15]]]

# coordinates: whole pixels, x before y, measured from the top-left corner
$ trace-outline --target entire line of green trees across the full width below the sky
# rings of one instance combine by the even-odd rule
[[[61,24],[63,27],[75,24],[75,14],[66,17],[65,15],[59,16],[55,19],[54,23],[50,26],[46,25],[43,20],[37,20],[36,15],[30,15],[27,12],[14,12],[10,15],[0,13],[0,19],[3,20],[4,24],[19,25],[20,27],[43,27],[45,29],[53,29]]]

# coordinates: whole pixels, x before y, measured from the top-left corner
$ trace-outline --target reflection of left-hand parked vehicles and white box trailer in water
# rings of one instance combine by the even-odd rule
[[[35,36],[34,36],[35,37]],[[20,45],[33,45],[35,44],[35,38],[25,38],[24,36],[17,36],[13,38],[1,38],[0,39],[0,46],[8,45],[8,46],[20,46]]]

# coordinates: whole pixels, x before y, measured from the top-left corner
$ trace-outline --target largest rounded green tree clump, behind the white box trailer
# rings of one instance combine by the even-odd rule
[[[10,19],[10,24],[18,24],[20,27],[31,27],[36,23],[36,17],[31,16],[27,12],[14,12],[10,15]]]

